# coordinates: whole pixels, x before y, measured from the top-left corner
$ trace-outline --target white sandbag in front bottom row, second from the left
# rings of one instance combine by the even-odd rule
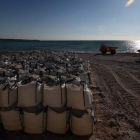
[[[46,127],[46,113],[44,107],[38,105],[30,108],[23,108],[24,132],[29,134],[41,134]]]

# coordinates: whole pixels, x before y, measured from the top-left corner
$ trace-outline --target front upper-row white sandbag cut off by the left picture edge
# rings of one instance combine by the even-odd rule
[[[0,85],[0,107],[10,107],[17,103],[17,86],[12,83]]]

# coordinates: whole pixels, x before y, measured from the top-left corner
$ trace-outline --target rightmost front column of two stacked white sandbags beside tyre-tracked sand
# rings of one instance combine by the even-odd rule
[[[67,84],[67,106],[70,111],[70,130],[78,136],[93,133],[92,93],[87,85]],[[91,109],[88,109],[91,107]]]

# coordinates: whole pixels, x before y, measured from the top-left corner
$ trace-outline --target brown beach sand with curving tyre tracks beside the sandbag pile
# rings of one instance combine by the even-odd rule
[[[140,140],[140,54],[79,54],[91,64],[95,126],[92,136],[29,135],[0,127],[0,140]]]

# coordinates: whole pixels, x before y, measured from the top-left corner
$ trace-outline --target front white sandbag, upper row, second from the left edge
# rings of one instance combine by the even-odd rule
[[[32,81],[18,86],[18,107],[36,106],[42,102],[42,84]]]

